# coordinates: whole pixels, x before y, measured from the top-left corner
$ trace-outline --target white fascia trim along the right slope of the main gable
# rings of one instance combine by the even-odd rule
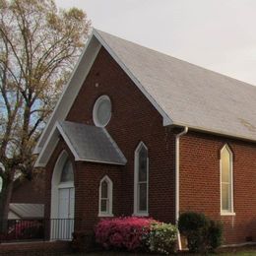
[[[109,47],[109,45],[104,41],[104,39],[100,36],[96,30],[94,30],[94,35],[98,39],[98,41],[102,44],[102,46],[108,51],[108,53],[112,56],[112,58],[117,62],[117,64],[124,70],[124,72],[130,77],[133,83],[140,89],[140,91],[146,96],[150,102],[155,106],[155,108],[160,112],[162,116],[162,124],[163,126],[173,124],[173,121],[169,118],[169,116],[165,113],[165,111],[160,107],[160,104],[145,90],[140,81],[132,74],[132,72],[125,66],[125,64],[120,60],[120,58],[115,54],[115,52]]]

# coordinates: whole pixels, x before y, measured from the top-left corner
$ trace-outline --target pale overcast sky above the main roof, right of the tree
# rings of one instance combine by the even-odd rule
[[[93,26],[256,85],[255,0],[56,0]]]

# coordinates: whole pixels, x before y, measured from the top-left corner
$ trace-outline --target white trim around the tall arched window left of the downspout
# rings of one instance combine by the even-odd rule
[[[145,147],[148,151],[147,146],[140,142],[134,152],[134,206],[133,216],[148,217],[149,216],[149,156],[147,159],[147,211],[139,211],[139,189],[138,189],[138,173],[139,173],[139,153],[142,147]]]

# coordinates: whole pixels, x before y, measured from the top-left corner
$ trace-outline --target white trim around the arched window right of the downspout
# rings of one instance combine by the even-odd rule
[[[223,195],[222,195],[222,152],[226,149],[229,153],[230,157],[230,195],[229,195],[229,202],[230,202],[230,210],[223,210]],[[221,216],[235,216],[235,213],[233,211],[233,153],[231,149],[228,147],[227,144],[224,145],[224,147],[221,150],[221,157],[220,157],[220,191],[221,191]]]

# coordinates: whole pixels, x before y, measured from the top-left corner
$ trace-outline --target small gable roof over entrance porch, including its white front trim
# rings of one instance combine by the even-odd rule
[[[121,165],[127,161],[104,128],[63,121],[57,123],[54,132],[45,143],[46,148],[36,160],[36,166],[45,166],[59,141],[59,135],[66,142],[75,160]]]

